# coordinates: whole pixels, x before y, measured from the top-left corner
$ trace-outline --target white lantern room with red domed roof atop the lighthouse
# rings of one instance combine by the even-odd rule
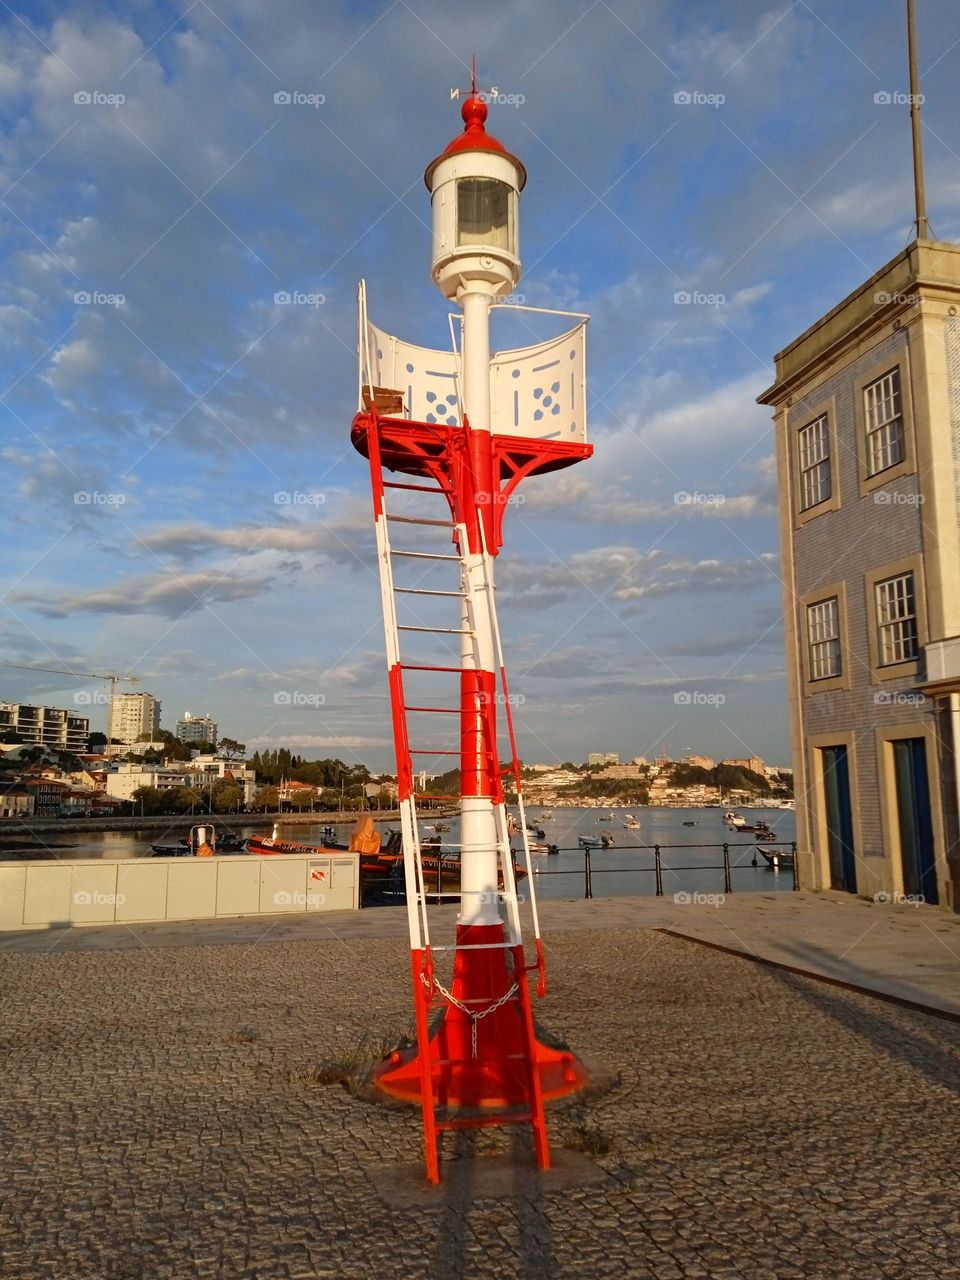
[[[486,102],[471,93],[463,132],[426,169],[433,206],[433,282],[444,297],[465,288],[492,298],[520,280],[520,192],[526,169],[484,128]]]

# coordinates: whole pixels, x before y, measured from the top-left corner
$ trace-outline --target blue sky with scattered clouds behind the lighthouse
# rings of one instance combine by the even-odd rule
[[[918,12],[931,218],[955,239],[960,10]],[[910,238],[908,109],[876,101],[908,88],[901,0],[0,13],[4,660],[137,673],[166,727],[189,708],[390,765],[356,282],[381,326],[445,344],[422,170],[476,51],[524,99],[488,120],[529,170],[520,292],[593,315],[595,457],[529,483],[498,564],[521,754],[786,760],[754,401]],[[0,698],[96,687],[4,671]]]

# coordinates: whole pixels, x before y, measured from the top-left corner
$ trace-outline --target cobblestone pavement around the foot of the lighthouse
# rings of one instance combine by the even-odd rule
[[[540,1019],[616,1076],[553,1146],[608,1179],[403,1208],[416,1112],[316,1070],[408,1027],[401,940],[0,956],[0,1275],[960,1277],[960,1025],[649,929],[548,951]]]

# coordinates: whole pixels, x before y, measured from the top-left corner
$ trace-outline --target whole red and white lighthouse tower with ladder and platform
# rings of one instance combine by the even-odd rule
[[[452,349],[428,351],[378,329],[367,319],[361,284],[361,403],[352,430],[353,444],[370,461],[374,494],[417,1028],[416,1048],[393,1053],[378,1069],[376,1083],[384,1093],[422,1106],[431,1181],[439,1180],[438,1132],[452,1128],[527,1123],[538,1164],[548,1167],[544,1101],[586,1083],[572,1053],[547,1048],[534,1034],[527,975],[536,975],[543,995],[544,955],[494,561],[506,504],[520,480],[593,452],[586,443],[588,317],[547,312],[576,324],[557,338],[492,356],[490,314],[520,280],[518,205],[526,170],[486,132],[486,114],[474,87],[462,108],[463,132],[425,173],[433,280],[460,307],[451,317]],[[436,509],[429,509],[430,502]],[[407,526],[415,547],[393,547],[397,526]],[[431,538],[442,541],[434,545]],[[403,579],[411,570],[415,576]],[[452,576],[440,585],[433,576],[438,571]],[[444,625],[430,612],[438,607],[449,611]],[[407,655],[407,643],[428,640],[440,645],[439,657]],[[498,746],[500,708],[509,742],[506,764]],[[448,748],[433,741],[438,723],[456,726]],[[417,795],[419,755],[453,756],[460,795]],[[511,851],[504,769],[517,788],[521,867]],[[439,855],[421,847],[417,806],[425,799],[458,800],[461,810],[460,915],[448,946],[430,936],[443,867]],[[534,963],[521,937],[518,876],[527,877]],[[449,987],[440,977],[444,952],[453,954]],[[440,1011],[433,1036],[431,1011]]]

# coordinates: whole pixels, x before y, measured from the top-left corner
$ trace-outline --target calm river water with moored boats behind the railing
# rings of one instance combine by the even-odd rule
[[[723,823],[722,809],[668,809],[644,808],[643,805],[614,809],[566,809],[554,808],[553,818],[543,819],[543,809],[534,806],[527,810],[527,819],[539,822],[545,840],[559,846],[556,856],[535,856],[532,859],[536,892],[540,897],[582,897],[584,896],[584,851],[577,845],[579,836],[598,836],[602,832],[613,835],[616,847],[591,850],[593,895],[594,897],[614,897],[628,893],[653,895],[655,877],[653,872],[653,845],[662,847],[663,892],[672,897],[676,892],[719,893],[723,891],[722,845],[730,845],[731,881],[735,893],[750,891],[790,890],[794,877],[790,868],[771,870],[763,858],[755,852],[758,841],[753,835],[739,835]],[[796,817],[787,809],[737,809],[748,822],[765,820],[777,841],[790,842],[796,838]],[[640,823],[637,831],[623,827],[627,814],[634,814]],[[611,820],[600,820],[602,818]],[[449,841],[451,850],[457,847],[460,822],[447,819],[451,831],[443,833],[444,847]],[[695,826],[686,826],[694,823]],[[302,842],[319,844],[325,823],[305,826],[301,823],[284,827],[280,836]],[[381,831],[397,826],[397,820],[378,824]],[[223,826],[220,826],[223,829]],[[230,829],[243,835],[269,833],[269,826],[260,823],[238,823]],[[338,828],[339,838],[346,841],[349,828]],[[429,822],[421,823],[424,835],[429,833]],[[175,844],[186,836],[182,828],[168,835],[159,832],[58,832],[56,852],[64,859],[81,858],[148,858],[151,844]],[[531,837],[532,838],[532,837]],[[760,841],[763,842],[763,841]],[[769,842],[769,841],[768,841]],[[513,841],[518,847],[518,840]],[[636,847],[646,846],[646,847]],[[703,846],[703,847],[698,847]],[[756,858],[759,865],[754,867]]]

